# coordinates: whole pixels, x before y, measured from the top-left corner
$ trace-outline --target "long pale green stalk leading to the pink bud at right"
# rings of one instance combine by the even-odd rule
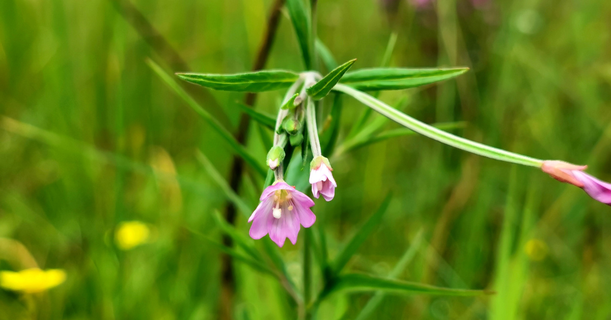
[[[371,109],[379,112],[385,117],[405,126],[406,128],[412,129],[415,132],[422,134],[423,136],[430,137],[431,139],[442,142],[443,144],[451,145],[452,147],[459,148],[476,155],[485,156],[500,161],[512,162],[515,164],[530,165],[532,167],[541,167],[543,160],[530,158],[528,156],[519,155],[510,151],[500,150],[497,148],[489,147],[488,145],[480,144],[471,140],[464,139],[462,137],[455,136],[447,133],[433,126],[427,125],[426,123],[420,122],[409,115],[404,114],[401,111],[389,106],[382,101],[368,95],[367,93],[348,87],[348,85],[337,84],[334,90],[346,93],[347,95],[353,96],[356,100],[364,103]]]

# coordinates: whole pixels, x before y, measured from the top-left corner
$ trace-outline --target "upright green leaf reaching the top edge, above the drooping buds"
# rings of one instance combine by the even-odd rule
[[[288,15],[291,16],[295,35],[304,59],[305,70],[312,69],[312,19],[303,0],[287,0]]]

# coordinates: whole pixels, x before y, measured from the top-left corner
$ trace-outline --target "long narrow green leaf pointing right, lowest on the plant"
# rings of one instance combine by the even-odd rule
[[[493,294],[491,291],[442,288],[425,285],[423,283],[378,278],[365,274],[341,275],[326,294],[337,291],[376,290],[394,291],[404,294],[429,294],[434,296],[481,296],[483,294]]]

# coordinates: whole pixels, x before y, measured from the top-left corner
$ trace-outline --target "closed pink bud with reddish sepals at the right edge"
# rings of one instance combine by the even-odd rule
[[[588,175],[583,170],[587,165],[574,165],[564,161],[548,160],[541,170],[552,178],[578,186],[598,202],[611,206],[611,184]]]

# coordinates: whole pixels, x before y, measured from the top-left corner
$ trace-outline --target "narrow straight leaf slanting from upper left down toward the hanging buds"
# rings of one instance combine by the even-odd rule
[[[251,167],[255,169],[255,171],[257,171],[261,176],[265,176],[265,174],[267,173],[265,167],[259,164],[259,162],[253,156],[251,156],[248,151],[246,151],[246,148],[244,148],[243,145],[241,145],[237,140],[235,140],[233,135],[227,129],[225,129],[225,127],[222,126],[221,123],[216,120],[216,118],[212,117],[212,115],[210,115],[208,111],[205,111],[202,106],[200,106],[188,93],[186,93],[186,91],[182,89],[180,85],[178,85],[178,82],[176,82],[174,78],[168,75],[166,71],[163,70],[163,68],[159,67],[159,65],[155,64],[153,60],[147,59],[147,64],[153,71],[155,71],[159,78],[166,82],[166,84],[170,88],[172,88],[174,92],[177,93],[178,96],[185,100],[185,102],[189,105],[189,107],[191,107],[191,109],[193,109],[204,120],[206,120],[206,122],[208,122],[208,124],[214,129],[214,131],[218,132],[221,137],[225,139],[225,141],[227,141],[227,143],[233,148],[233,150],[235,150],[235,152],[244,159],[244,161],[251,165]]]

